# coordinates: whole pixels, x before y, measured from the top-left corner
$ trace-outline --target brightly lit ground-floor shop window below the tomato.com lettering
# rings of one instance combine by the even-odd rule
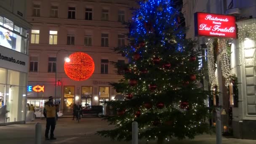
[[[5,123],[24,121],[27,74],[0,68],[0,77],[0,110],[6,108]]]

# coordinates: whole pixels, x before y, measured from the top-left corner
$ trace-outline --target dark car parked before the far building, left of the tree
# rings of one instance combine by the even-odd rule
[[[83,116],[86,115],[97,115],[101,116],[103,113],[103,107],[102,106],[87,106],[83,108]]]

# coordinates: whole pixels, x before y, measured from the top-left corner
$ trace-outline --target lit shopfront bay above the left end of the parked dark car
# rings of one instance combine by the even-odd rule
[[[91,106],[91,97],[93,94],[92,86],[82,86],[82,107]]]

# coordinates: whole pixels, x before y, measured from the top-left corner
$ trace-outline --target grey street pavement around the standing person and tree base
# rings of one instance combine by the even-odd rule
[[[96,117],[83,117],[80,123],[72,118],[60,118],[57,121],[55,136],[57,140],[45,141],[45,120],[36,119],[35,122],[24,125],[0,126],[0,144],[35,144],[35,123],[42,124],[42,144],[131,144],[131,141],[111,141],[96,135],[97,131],[113,128],[106,121]],[[223,144],[256,144],[256,140],[222,139]],[[139,144],[156,144],[155,141],[139,141]],[[216,144],[215,135],[200,135],[195,139],[178,141],[172,139],[165,144]]]

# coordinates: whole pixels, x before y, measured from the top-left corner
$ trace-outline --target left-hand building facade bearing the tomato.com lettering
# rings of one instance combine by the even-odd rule
[[[25,123],[29,67],[26,0],[0,1],[0,125]]]

